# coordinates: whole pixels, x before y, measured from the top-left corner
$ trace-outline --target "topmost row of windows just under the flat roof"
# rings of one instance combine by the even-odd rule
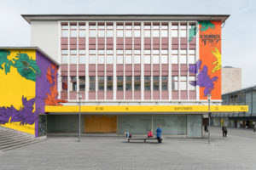
[[[144,37],[168,37],[168,26],[167,23],[164,26],[154,25],[150,26],[150,23],[145,23],[143,26],[143,35]],[[189,29],[195,26],[189,25]],[[141,26],[137,24],[136,26],[117,24],[116,27],[116,37],[141,37]],[[61,37],[85,37],[85,23],[84,25],[76,25],[73,23],[70,25],[70,28],[67,24],[61,24]],[[172,37],[187,37],[187,26],[183,24],[181,26],[177,26],[177,23],[172,25]],[[104,26],[98,25],[95,23],[90,24],[89,26],[89,37],[113,37],[113,25]]]

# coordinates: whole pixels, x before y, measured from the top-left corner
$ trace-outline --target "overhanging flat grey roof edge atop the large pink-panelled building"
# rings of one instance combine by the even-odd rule
[[[230,14],[21,14],[32,20],[220,20],[224,23]]]

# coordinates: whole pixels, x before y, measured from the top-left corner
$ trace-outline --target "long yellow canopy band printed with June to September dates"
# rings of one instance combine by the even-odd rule
[[[211,105],[211,112],[247,112],[247,105]],[[45,106],[45,112],[79,112],[79,105]],[[81,112],[208,112],[208,105],[83,105]]]

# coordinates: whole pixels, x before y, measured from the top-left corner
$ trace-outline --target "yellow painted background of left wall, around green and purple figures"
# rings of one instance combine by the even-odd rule
[[[8,49],[10,52],[8,59],[17,59],[17,54],[26,53],[29,58],[36,59],[36,50],[13,50]],[[27,99],[32,99],[36,94],[36,82],[27,80],[25,77],[21,77],[15,67],[10,67],[8,74],[0,70],[0,107],[10,107],[13,105],[15,109],[20,110],[22,106],[22,96]],[[11,119],[11,118],[10,118]],[[9,120],[10,121],[10,120]],[[20,125],[20,122],[9,122],[3,127],[13,128],[15,130],[35,134],[35,123],[32,125]]]

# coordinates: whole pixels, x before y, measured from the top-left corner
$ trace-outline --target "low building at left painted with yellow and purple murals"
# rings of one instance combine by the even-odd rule
[[[0,48],[0,126],[46,134],[45,105],[56,105],[59,64],[40,48]]]

